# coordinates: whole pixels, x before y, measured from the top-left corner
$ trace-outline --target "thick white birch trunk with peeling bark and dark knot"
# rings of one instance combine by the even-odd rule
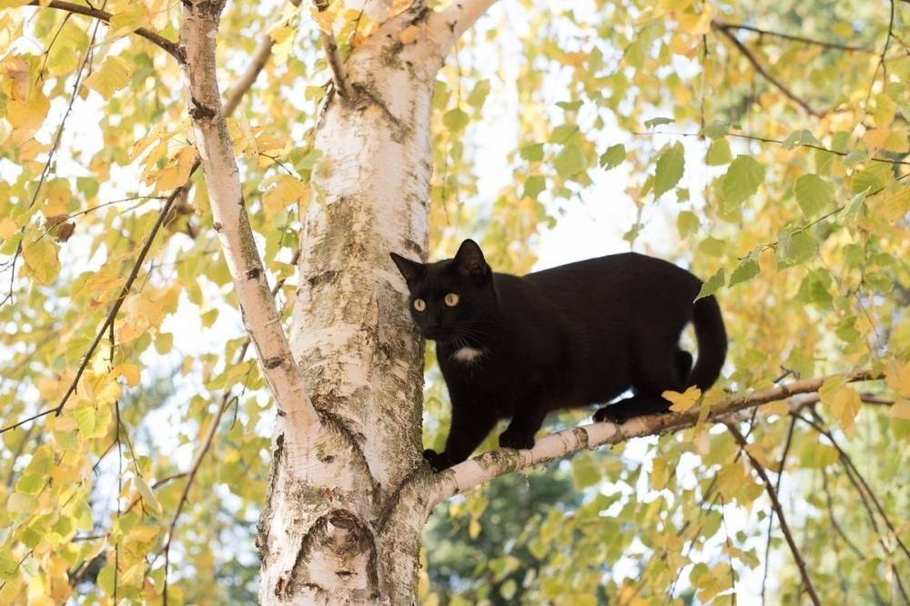
[[[430,483],[423,346],[389,252],[423,257],[427,245],[430,103],[444,50],[398,34],[428,15],[412,9],[371,35],[345,65],[346,94],[337,88],[321,110],[290,340],[325,429],[314,443],[279,412],[259,531],[262,603],[416,599],[430,509],[418,490]]]

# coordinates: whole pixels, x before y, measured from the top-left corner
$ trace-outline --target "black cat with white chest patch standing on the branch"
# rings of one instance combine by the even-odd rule
[[[610,402],[632,389],[632,397],[594,413],[596,421],[622,423],[666,411],[665,390],[704,391],[721,373],[720,308],[713,296],[693,303],[702,281],[672,263],[622,253],[520,277],[490,271],[472,240],[437,263],[391,257],[449,387],[446,450],[423,452],[437,471],[467,459],[500,419],[511,419],[501,446],[531,448],[553,410]],[[679,347],[690,322],[694,368]]]

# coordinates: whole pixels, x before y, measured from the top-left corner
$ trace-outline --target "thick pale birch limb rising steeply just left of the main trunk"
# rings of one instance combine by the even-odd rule
[[[319,425],[319,415],[303,386],[298,365],[281,327],[275,297],[249,225],[234,152],[218,94],[216,39],[225,0],[187,0],[183,4],[181,65],[189,115],[211,200],[212,216],[227,268],[234,282],[244,327],[256,347],[262,373],[278,415],[299,416],[304,431]]]

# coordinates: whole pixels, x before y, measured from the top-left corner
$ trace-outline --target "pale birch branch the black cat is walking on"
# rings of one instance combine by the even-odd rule
[[[845,376],[847,381],[850,382],[873,381],[880,378],[869,371],[853,371]],[[787,385],[718,402],[711,407],[708,419],[717,422],[722,417],[726,417],[733,412],[739,412],[768,402],[785,400],[798,393],[817,392],[822,383],[828,378],[794,381]],[[430,487],[430,506],[460,492],[470,491],[483,482],[488,482],[506,473],[517,472],[542,462],[551,462],[573,452],[591,450],[606,444],[625,442],[631,438],[640,438],[646,435],[678,432],[687,427],[692,427],[698,422],[699,414],[700,410],[693,408],[680,413],[636,417],[622,425],[615,425],[610,422],[595,422],[544,436],[534,443],[534,447],[531,450],[516,451],[510,448],[501,448],[484,452],[480,456],[460,462],[448,470],[439,472],[436,475],[436,482]]]

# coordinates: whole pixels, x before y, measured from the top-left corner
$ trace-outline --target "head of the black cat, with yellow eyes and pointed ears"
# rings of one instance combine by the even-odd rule
[[[453,258],[436,263],[390,256],[408,283],[410,315],[423,338],[477,343],[489,335],[496,294],[490,265],[476,242],[465,240]]]

